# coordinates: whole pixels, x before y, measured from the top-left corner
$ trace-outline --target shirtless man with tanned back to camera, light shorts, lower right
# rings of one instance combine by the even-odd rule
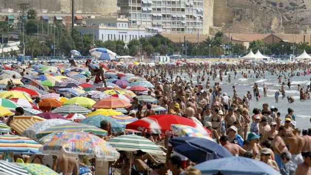
[[[301,151],[305,144],[305,140],[300,137],[300,132],[300,129],[296,128],[294,133],[290,133],[285,139],[286,143],[289,145],[289,151],[292,154],[291,160],[297,165],[303,162]]]

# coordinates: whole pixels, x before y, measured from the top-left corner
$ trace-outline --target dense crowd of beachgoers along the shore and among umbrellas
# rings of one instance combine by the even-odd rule
[[[72,64],[75,65],[74,61]],[[92,64],[90,60],[86,62],[86,67],[95,77],[93,81],[95,88],[105,86],[103,67]],[[266,85],[263,86],[263,97],[260,96],[261,91],[257,83],[253,87],[253,94],[247,91],[241,96],[238,95],[240,92],[235,86],[232,86],[233,91],[230,93],[232,95],[229,96],[228,92],[222,90],[221,85],[223,81],[230,83],[232,79],[236,79],[238,73],[241,73],[243,78],[253,77],[253,74],[256,78],[264,78],[266,73],[277,75],[281,84],[281,88],[275,93],[275,100],[278,103],[279,95],[282,95],[282,99],[286,97],[285,80],[287,88],[290,89],[289,78],[307,76],[306,70],[309,69],[309,65],[209,65],[179,62],[174,65],[158,64],[154,67],[111,64],[109,68],[144,77],[155,86],[149,88],[148,95],[155,97],[157,105],[164,107],[167,114],[189,118],[206,127],[210,131],[210,138],[225,147],[232,155],[257,159],[282,175],[311,175],[311,128],[301,130],[296,127],[294,110],[288,108],[288,113],[284,115],[275,106],[265,103],[264,98],[268,91]],[[295,72],[299,70],[303,73],[296,74]],[[230,73],[233,74],[233,78]],[[224,79],[224,75],[227,80]],[[196,82],[193,81],[195,76]],[[10,82],[8,88],[13,86],[12,84],[13,82]],[[306,90],[299,86],[300,100],[307,99],[310,90],[310,86]],[[291,96],[287,96],[287,99],[289,103],[294,102]],[[34,103],[37,104],[39,101],[40,99],[35,99]],[[250,109],[250,103],[259,102],[263,102],[262,108]],[[150,104],[147,104],[147,110],[144,112],[142,107],[143,105],[134,98],[132,106],[127,109],[127,114],[138,119],[155,115]],[[9,125],[10,120],[6,123]],[[109,123],[105,121],[101,123],[101,128],[107,131],[111,129]],[[187,161],[184,164],[185,157],[171,157],[173,150],[166,140],[167,136],[152,133],[145,136],[153,141],[165,140],[162,147],[167,154],[165,162],[161,163],[149,153],[142,151],[138,151],[132,161],[126,152],[121,152],[119,160],[113,164],[113,167],[121,168],[121,175],[141,175],[149,171],[152,175],[165,175],[167,170],[173,175],[180,175],[184,171],[187,175],[200,175],[198,170],[192,168],[195,162]],[[105,139],[111,137],[113,134],[108,132]],[[60,158],[70,162],[65,157]],[[75,164],[75,161],[72,161],[72,164]],[[69,163],[73,170],[72,164]]]

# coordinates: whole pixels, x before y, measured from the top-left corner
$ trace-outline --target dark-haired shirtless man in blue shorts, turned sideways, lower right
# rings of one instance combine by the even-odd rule
[[[286,128],[284,126],[280,126],[278,129],[278,134],[276,135],[275,139],[272,141],[272,147],[275,154],[275,160],[280,169],[283,167],[282,159],[280,157],[281,153],[288,151],[284,140],[282,137],[286,135]]]

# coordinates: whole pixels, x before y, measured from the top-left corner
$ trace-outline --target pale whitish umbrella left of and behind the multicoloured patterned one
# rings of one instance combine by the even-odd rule
[[[63,120],[63,119],[50,119],[50,120],[45,120],[41,122],[37,122],[31,126],[29,126],[22,134],[21,136],[32,138],[32,139],[37,139],[36,134],[39,132],[42,132],[52,126],[59,125],[59,124],[65,124],[65,123],[71,123],[68,120]]]

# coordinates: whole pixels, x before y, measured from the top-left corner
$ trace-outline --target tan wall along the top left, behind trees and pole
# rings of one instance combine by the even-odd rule
[[[48,9],[48,12],[71,11],[71,0],[0,0],[0,7],[13,8],[15,12],[19,10],[19,3],[29,3],[32,7]],[[74,0],[75,11],[102,13],[103,16],[117,15],[117,0]]]

